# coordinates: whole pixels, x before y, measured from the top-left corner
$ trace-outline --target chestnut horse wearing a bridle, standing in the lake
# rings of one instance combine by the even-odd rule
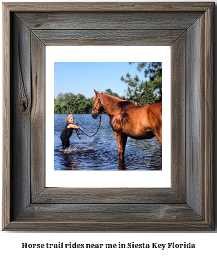
[[[128,136],[136,140],[157,137],[162,144],[162,103],[134,105],[95,89],[92,117],[105,109],[118,144],[119,159],[123,158]]]

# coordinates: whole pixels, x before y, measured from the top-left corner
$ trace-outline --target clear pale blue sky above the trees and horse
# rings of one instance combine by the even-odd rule
[[[54,62],[54,98],[59,93],[81,93],[86,98],[94,97],[94,89],[105,91],[111,89],[119,96],[125,95],[127,84],[120,80],[129,72],[132,77],[137,74],[145,80],[143,72],[139,72],[137,64],[129,62]]]

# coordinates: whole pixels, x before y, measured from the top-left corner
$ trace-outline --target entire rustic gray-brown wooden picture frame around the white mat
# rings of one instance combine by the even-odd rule
[[[3,3],[3,230],[213,230],[214,3]],[[170,45],[171,188],[45,188],[45,45]]]

